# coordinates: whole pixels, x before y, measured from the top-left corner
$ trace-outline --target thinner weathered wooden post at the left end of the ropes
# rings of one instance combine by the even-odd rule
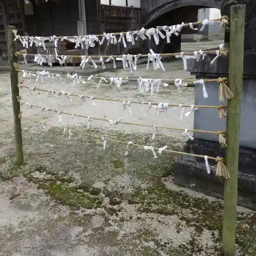
[[[24,162],[23,157],[23,143],[22,143],[22,123],[19,118],[20,104],[17,96],[19,96],[18,84],[18,72],[15,70],[14,65],[17,65],[17,57],[15,56],[16,44],[14,40],[13,30],[16,30],[13,26],[8,26],[8,58],[10,63],[11,73],[11,90],[12,90],[12,106],[13,106],[13,119],[14,119],[14,133],[16,142],[16,164],[21,165]]]

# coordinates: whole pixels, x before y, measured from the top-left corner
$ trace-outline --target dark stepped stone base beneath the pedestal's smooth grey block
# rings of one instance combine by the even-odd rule
[[[203,140],[188,141],[184,152],[198,155],[224,157],[225,152],[219,143]],[[240,147],[239,156],[239,193],[238,204],[256,210],[256,150]],[[206,195],[223,198],[224,180],[215,177],[216,162],[209,160],[211,174],[207,174],[205,162],[202,158],[181,156],[175,163],[174,183]]]

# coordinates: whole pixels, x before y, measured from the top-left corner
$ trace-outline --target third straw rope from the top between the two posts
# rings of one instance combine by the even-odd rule
[[[24,70],[19,70],[19,69],[16,70],[16,71],[17,72],[24,72]],[[37,74],[37,72],[32,72],[32,71],[27,71],[27,72],[30,72],[30,73],[35,74],[35,75]],[[49,73],[49,74],[50,74],[50,76],[58,75],[58,76],[66,77],[66,78],[67,78],[67,75],[68,75],[68,74],[67,75],[53,74],[53,73]],[[100,80],[102,77],[105,78],[105,79],[110,79],[111,78],[109,76],[79,76],[79,77],[86,78],[86,79],[90,78],[90,80],[91,79],[98,79],[98,80]],[[120,77],[114,77],[114,78],[120,78]],[[127,81],[137,82],[138,79],[140,79],[140,77],[138,77],[138,78],[122,77],[121,79],[122,80],[127,80]],[[161,78],[146,78],[146,79],[156,79],[156,80],[158,80],[158,79],[161,79]],[[180,79],[182,79],[183,81],[186,81],[187,84],[189,84],[190,86],[191,85],[195,85],[193,82],[198,80],[198,79],[194,79],[194,78],[180,78]],[[224,79],[228,81],[228,79],[226,77],[224,77]],[[161,81],[167,82],[169,84],[174,84],[175,80],[176,80],[176,78],[161,79]],[[218,79],[203,79],[203,80],[204,80],[204,82],[217,82],[218,81]],[[191,82],[191,84],[190,84],[190,82]],[[102,83],[104,83],[104,81],[102,81]]]

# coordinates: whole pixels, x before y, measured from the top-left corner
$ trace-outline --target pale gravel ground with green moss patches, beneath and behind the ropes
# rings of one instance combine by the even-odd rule
[[[189,77],[182,63],[164,64],[165,73],[145,71],[138,67],[134,76]],[[129,76],[118,70],[102,76]],[[110,255],[220,255],[222,208],[221,200],[206,197],[174,185],[172,174],[175,155],[164,154],[154,159],[152,153],[139,148],[102,141],[90,136],[63,134],[63,127],[72,126],[92,135],[108,135],[118,140],[133,141],[156,147],[167,145],[181,150],[185,140],[180,132],[157,129],[152,141],[151,127],[132,125],[110,126],[108,122],[43,112],[22,106],[23,116],[58,126],[42,127],[23,120],[26,164],[15,165],[13,120],[8,73],[1,73],[0,82],[0,255],[3,256],[110,256]],[[174,86],[159,94],[141,97],[136,84],[121,89],[93,81],[84,85],[25,81],[29,87],[65,91],[94,97],[193,104],[194,90],[177,91]],[[160,116],[152,109],[147,115],[141,105],[132,104],[123,110],[122,103],[73,97],[21,89],[23,100],[46,108],[69,113],[191,129],[193,116],[180,120],[180,109],[170,108]],[[106,108],[107,107],[107,108]],[[192,135],[192,134],[191,134]],[[255,255],[255,220],[253,211],[238,207],[237,255]]]

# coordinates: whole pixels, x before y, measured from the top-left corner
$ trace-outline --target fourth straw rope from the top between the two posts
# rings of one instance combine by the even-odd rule
[[[17,86],[19,88],[27,88],[30,89],[32,91],[40,91],[40,92],[47,92],[47,93],[52,93],[52,94],[63,94],[62,92],[57,92],[54,90],[45,90],[45,89],[40,89],[40,88],[36,88],[36,87],[28,87],[28,86],[24,86],[22,83],[24,81],[20,82]],[[100,97],[94,97],[94,96],[84,96],[84,95],[79,95],[79,94],[71,94],[71,93],[67,93],[67,94],[63,94],[66,96],[72,96],[72,97],[79,97],[79,98],[88,98],[88,99],[97,99],[97,100],[106,100],[106,101],[114,101],[114,102],[124,102],[125,100],[122,99],[110,99],[110,98],[100,98]],[[151,104],[151,105],[158,105],[159,103],[156,102],[140,102],[140,101],[131,101],[131,103],[133,104]],[[172,104],[172,103],[168,103],[169,106],[173,106],[173,107],[180,107],[180,104]],[[211,105],[194,105],[195,108],[201,108],[201,109],[217,109],[217,110],[225,110],[227,108],[226,105],[219,105],[219,106],[211,106]],[[190,108],[191,105],[188,104],[182,104],[182,108]]]

